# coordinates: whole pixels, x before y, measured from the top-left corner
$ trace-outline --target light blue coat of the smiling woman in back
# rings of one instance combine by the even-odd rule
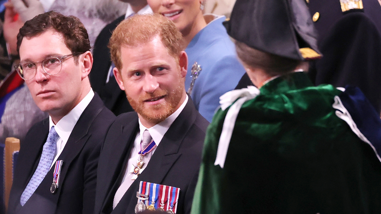
[[[185,50],[188,54],[185,89],[188,91],[191,85],[192,65],[197,62],[202,71],[195,80],[191,97],[196,109],[209,122],[219,106],[219,97],[233,90],[245,73],[223,21],[225,16],[211,21],[195,35]]]

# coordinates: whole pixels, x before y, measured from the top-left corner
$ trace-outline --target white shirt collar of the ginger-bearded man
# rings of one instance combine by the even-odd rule
[[[156,146],[158,146],[160,141],[162,141],[164,134],[168,131],[174,120],[176,120],[176,118],[180,115],[187,102],[188,95],[180,107],[175,112],[173,112],[173,114],[165,118],[165,120],[161,121],[160,123],[152,126],[151,128],[146,128],[143,126],[139,119],[140,136],[142,137],[144,130],[148,129],[149,134],[151,135],[152,139],[154,139]]]

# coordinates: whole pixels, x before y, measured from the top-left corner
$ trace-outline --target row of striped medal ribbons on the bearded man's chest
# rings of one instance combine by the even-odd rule
[[[155,209],[163,208],[164,211],[171,210],[173,213],[177,211],[180,188],[141,181],[138,193],[148,195],[148,200],[138,198],[138,203],[143,202],[148,206],[154,202]]]

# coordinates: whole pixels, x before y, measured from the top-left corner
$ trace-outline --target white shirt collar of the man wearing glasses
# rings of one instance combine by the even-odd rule
[[[94,91],[90,88],[89,93],[79,102],[67,115],[61,118],[56,125],[54,125],[53,120],[49,116],[49,130],[52,126],[56,129],[56,132],[62,141],[67,142],[75,124],[77,123],[79,117],[82,115],[83,111],[86,109],[87,105],[94,97]]]

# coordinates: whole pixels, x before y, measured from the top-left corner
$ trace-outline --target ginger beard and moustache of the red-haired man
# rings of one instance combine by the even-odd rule
[[[154,93],[149,94],[145,92],[145,94],[140,96],[138,99],[129,97],[127,90],[125,90],[127,100],[130,102],[130,105],[135,110],[135,112],[141,115],[143,118],[156,124],[160,123],[161,121],[165,120],[165,118],[173,114],[173,112],[175,112],[175,108],[178,106],[182,94],[185,90],[184,80],[181,78],[180,74],[178,74],[178,76],[178,86],[174,90],[168,91],[159,87],[154,91]],[[165,99],[163,104],[147,105],[145,103],[148,99],[162,96],[164,96]]]

